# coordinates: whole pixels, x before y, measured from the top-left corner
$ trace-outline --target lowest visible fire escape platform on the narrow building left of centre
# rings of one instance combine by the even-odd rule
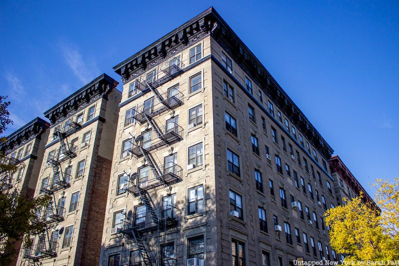
[[[55,258],[57,257],[57,253],[55,252],[57,245],[55,241],[39,240],[39,243],[23,251],[23,258],[33,262]]]

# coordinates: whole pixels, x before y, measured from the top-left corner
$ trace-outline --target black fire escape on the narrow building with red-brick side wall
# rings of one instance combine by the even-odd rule
[[[48,234],[50,228],[64,221],[65,208],[63,203],[57,205],[54,193],[70,186],[70,176],[62,172],[61,163],[76,157],[76,153],[73,152],[74,147],[67,142],[66,137],[79,130],[79,128],[79,123],[72,122],[64,128],[63,132],[57,128],[54,129],[53,135],[60,143],[59,153],[58,156],[55,153],[48,156],[47,163],[51,165],[53,178],[51,182],[48,181],[47,184],[42,184],[40,188],[40,192],[52,196],[52,200],[44,210],[43,215],[40,214],[41,211],[36,214],[36,223],[42,223],[44,227],[42,231],[36,234],[38,236],[37,243],[23,251],[23,258],[28,261],[29,265],[36,265],[40,260],[57,256],[57,242],[53,241]]]

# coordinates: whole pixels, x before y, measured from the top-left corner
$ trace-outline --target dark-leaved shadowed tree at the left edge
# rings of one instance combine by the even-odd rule
[[[7,110],[10,102],[7,97],[0,96],[0,135],[12,121]],[[0,147],[6,143],[6,138],[0,138]],[[16,189],[10,189],[12,175],[23,164],[16,164],[8,158],[4,150],[0,150],[0,265],[8,265],[18,254],[18,246],[24,239],[24,247],[31,245],[32,234],[43,231],[45,224],[36,215],[49,204],[51,198],[47,195],[28,199]]]

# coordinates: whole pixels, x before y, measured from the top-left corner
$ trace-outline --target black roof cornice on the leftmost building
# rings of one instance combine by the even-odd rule
[[[25,144],[31,139],[40,136],[49,127],[50,124],[47,121],[41,119],[40,117],[36,117],[6,137],[7,141],[0,144],[0,150],[8,154],[22,144]]]

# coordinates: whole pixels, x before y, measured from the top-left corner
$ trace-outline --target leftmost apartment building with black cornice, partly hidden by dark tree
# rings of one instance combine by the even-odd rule
[[[0,150],[9,158],[9,162],[18,167],[15,173],[2,172],[1,192],[18,192],[31,199],[34,194],[39,170],[43,160],[44,145],[49,134],[50,124],[36,117],[6,137]],[[21,243],[15,246],[19,250]],[[16,263],[17,256],[12,260]]]

